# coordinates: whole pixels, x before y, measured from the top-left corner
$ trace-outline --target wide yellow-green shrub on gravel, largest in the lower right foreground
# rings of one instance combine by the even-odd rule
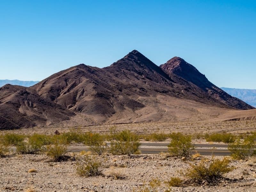
[[[224,157],[220,159],[202,159],[198,164],[190,164],[185,175],[197,184],[206,181],[207,184],[213,185],[219,182],[224,173],[228,173],[234,169],[229,167],[230,159]]]

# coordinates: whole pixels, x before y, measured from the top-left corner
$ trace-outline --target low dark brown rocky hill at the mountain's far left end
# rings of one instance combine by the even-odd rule
[[[44,100],[35,90],[6,84],[0,88],[0,127],[15,129],[42,126],[68,120],[75,114]]]

